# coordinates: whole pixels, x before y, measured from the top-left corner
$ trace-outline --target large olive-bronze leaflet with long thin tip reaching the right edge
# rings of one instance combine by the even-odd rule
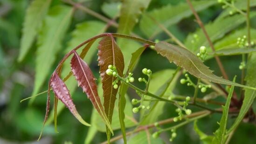
[[[231,82],[214,75],[212,70],[204,65],[204,63],[196,55],[186,48],[161,41],[156,44],[155,49],[158,54],[165,56],[170,62],[174,62],[177,66],[186,69],[191,75],[198,78],[206,79],[210,82],[234,85],[247,89],[256,89],[236,82]]]

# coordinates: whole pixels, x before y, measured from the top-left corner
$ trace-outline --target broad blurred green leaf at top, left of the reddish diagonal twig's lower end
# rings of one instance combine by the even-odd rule
[[[215,3],[216,0],[192,1],[196,11],[206,9]],[[176,6],[167,5],[143,14],[139,27],[147,37],[151,37],[159,34],[162,31],[162,29],[159,28],[154,21],[152,21],[151,17],[162,24],[164,27],[169,27],[178,23],[180,20],[189,17],[192,14],[192,11],[185,2]]]

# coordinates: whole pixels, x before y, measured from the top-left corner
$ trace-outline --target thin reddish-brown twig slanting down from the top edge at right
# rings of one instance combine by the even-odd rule
[[[194,16],[195,16],[195,18],[196,18],[196,21],[197,21],[197,23],[198,23],[198,25],[201,27],[201,29],[202,29],[202,31],[203,31],[203,33],[204,33],[204,35],[205,35],[205,37],[206,37],[206,39],[207,39],[209,45],[210,45],[212,51],[215,52],[214,45],[213,45],[213,43],[212,43],[212,41],[211,41],[211,39],[210,39],[210,37],[209,37],[209,35],[208,35],[206,29],[205,29],[205,27],[204,27],[204,25],[203,25],[203,23],[202,23],[200,17],[198,16],[198,14],[196,13],[196,11],[194,10],[194,7],[193,7],[193,5],[191,4],[190,0],[187,0],[187,4],[188,4],[188,6],[190,7],[191,11],[193,12],[193,14],[194,14]],[[223,67],[223,65],[222,65],[222,63],[221,63],[220,58],[219,58],[217,55],[215,55],[214,57],[215,57],[216,62],[218,63],[218,66],[219,66],[220,70],[221,70],[221,74],[223,75],[223,77],[224,77],[225,79],[228,79],[228,75],[227,75],[227,73],[226,73],[226,71],[225,71],[225,69],[224,69],[224,67]]]

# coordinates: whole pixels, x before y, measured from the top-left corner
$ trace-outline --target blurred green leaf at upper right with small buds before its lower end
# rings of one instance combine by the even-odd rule
[[[252,18],[254,16],[256,16],[256,12],[251,12],[250,17]],[[245,21],[246,19],[244,18],[243,15],[237,14],[209,23],[205,25],[205,28],[211,41],[214,42],[218,39],[221,39],[225,34],[240,26]],[[231,23],[232,25],[230,25]],[[195,38],[194,35],[197,35],[197,38]],[[209,46],[202,29],[198,29],[196,32],[189,34],[185,41],[185,45],[194,54],[199,51],[199,48],[201,46]],[[207,51],[210,52],[211,49],[207,48]]]

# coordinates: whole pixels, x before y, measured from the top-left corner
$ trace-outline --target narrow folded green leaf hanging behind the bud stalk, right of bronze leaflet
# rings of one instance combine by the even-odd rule
[[[128,66],[127,73],[132,72],[136,63],[138,62],[138,59],[140,55],[143,53],[146,47],[141,47],[138,48],[134,53],[131,54],[131,61]],[[126,74],[127,74],[126,73]],[[125,99],[125,94],[127,92],[128,86],[122,83],[120,85],[120,93],[119,93],[119,100],[118,100],[118,116],[119,116],[119,122],[120,122],[120,127],[123,135],[123,140],[124,144],[127,143],[126,140],[126,132],[125,132],[125,107],[126,107],[126,99]]]

